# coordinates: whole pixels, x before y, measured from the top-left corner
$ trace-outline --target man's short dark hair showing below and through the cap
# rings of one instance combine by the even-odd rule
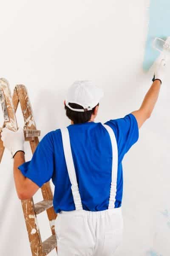
[[[81,105],[76,103],[68,103],[68,105],[71,106],[71,108],[83,109]],[[99,103],[96,106],[99,106]],[[71,119],[74,122],[74,124],[88,122],[91,119],[91,115],[92,113],[94,113],[94,109],[96,108],[96,106],[92,108],[92,110],[88,110],[85,112],[78,112],[78,111],[71,110],[65,105],[66,116],[69,119]]]

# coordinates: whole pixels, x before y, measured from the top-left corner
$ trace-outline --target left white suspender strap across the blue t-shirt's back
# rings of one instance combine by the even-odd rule
[[[64,154],[65,154],[65,161],[68,169],[68,175],[71,182],[71,190],[73,194],[74,204],[76,207],[76,210],[82,209],[82,201],[79,194],[79,188],[77,183],[77,177],[76,172],[74,169],[74,162],[73,157],[71,153],[71,144],[70,144],[70,137],[68,128],[61,128],[61,134],[62,134],[62,143],[64,148]]]

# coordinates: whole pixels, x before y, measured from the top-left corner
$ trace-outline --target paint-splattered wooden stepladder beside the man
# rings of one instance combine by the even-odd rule
[[[22,84],[16,85],[13,96],[11,97],[8,81],[6,79],[0,79],[0,103],[4,117],[3,127],[12,131],[17,131],[18,129],[15,113],[19,102],[24,118],[23,129],[25,140],[29,141],[33,154],[39,143],[38,136],[40,136],[40,131],[36,128],[27,89]],[[0,139],[0,162],[3,157],[3,152],[3,141]],[[41,192],[43,200],[37,204],[34,204],[33,198],[21,200],[32,256],[45,256],[54,248],[56,248],[57,251],[57,239],[55,234],[55,219],[57,218],[57,213],[54,211],[53,207],[53,193],[50,181],[43,184]],[[45,210],[48,215],[52,235],[42,242],[37,222],[37,214]]]

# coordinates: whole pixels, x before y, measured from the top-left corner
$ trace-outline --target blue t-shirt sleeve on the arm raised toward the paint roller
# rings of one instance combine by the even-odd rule
[[[139,139],[139,128],[136,117],[130,113],[123,118],[111,119],[106,123],[113,128],[119,154],[123,157]]]

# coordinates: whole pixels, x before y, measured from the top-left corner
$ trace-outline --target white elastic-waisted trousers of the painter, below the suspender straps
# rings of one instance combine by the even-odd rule
[[[113,256],[123,239],[122,207],[61,211],[55,221],[58,256]]]

